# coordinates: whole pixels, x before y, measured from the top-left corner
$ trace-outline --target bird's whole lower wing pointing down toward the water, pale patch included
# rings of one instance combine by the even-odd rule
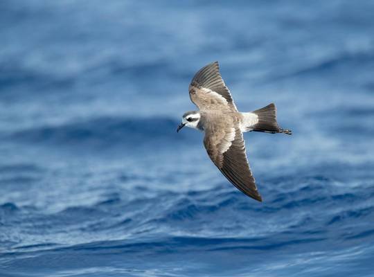
[[[245,195],[262,201],[245,154],[243,134],[238,127],[209,127],[205,130],[204,146],[215,166],[231,184]]]

